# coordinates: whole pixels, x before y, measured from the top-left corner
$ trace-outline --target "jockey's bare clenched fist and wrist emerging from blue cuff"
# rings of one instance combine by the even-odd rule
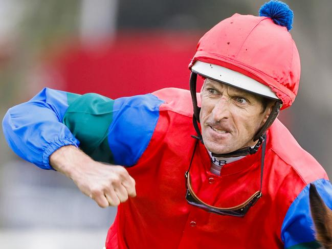
[[[135,197],[135,180],[122,166],[96,162],[75,146],[63,146],[50,156],[50,165],[73,179],[82,193],[101,208],[118,206]]]

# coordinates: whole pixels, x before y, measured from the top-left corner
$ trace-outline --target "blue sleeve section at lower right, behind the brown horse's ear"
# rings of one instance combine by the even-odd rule
[[[327,207],[332,208],[332,186],[329,180],[319,179],[313,184]],[[320,244],[315,239],[314,223],[310,212],[309,186],[307,185],[293,201],[283,220],[281,239],[284,248],[320,248]]]

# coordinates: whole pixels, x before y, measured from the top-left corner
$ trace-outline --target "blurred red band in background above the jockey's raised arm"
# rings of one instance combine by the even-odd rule
[[[118,98],[163,87],[189,89],[188,64],[201,35],[119,32],[97,47],[70,46],[54,65],[64,80],[64,90],[74,93]]]

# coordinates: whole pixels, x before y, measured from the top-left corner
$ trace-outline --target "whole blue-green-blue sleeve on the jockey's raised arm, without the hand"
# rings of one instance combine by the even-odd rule
[[[151,94],[112,100],[45,88],[8,110],[3,130],[17,155],[43,169],[52,169],[49,156],[64,145],[96,161],[132,166],[150,142],[162,103]]]

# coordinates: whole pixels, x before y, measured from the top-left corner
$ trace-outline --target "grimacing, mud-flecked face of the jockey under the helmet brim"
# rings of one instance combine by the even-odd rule
[[[206,79],[201,90],[200,121],[205,147],[217,154],[253,146],[253,137],[265,123],[272,104],[244,90]]]

